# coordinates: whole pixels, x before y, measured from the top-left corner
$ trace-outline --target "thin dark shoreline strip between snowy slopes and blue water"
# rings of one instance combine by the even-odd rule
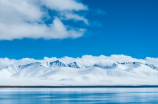
[[[21,86],[3,86],[0,88],[88,88],[88,87],[158,87],[158,85],[57,85],[57,86],[47,86],[47,85],[21,85]]]

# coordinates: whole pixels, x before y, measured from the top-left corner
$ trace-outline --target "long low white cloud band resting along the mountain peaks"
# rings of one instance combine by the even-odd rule
[[[73,58],[73,57],[63,57],[63,58],[57,58],[57,57],[52,57],[52,58],[48,58],[48,57],[44,57],[43,60],[35,60],[35,59],[30,59],[30,58],[23,58],[20,60],[15,60],[15,59],[8,59],[8,58],[0,58],[0,69],[4,68],[7,65],[25,65],[25,64],[29,64],[32,62],[42,62],[42,63],[46,63],[46,62],[52,62],[52,61],[56,61],[56,60],[60,60],[61,62],[65,63],[65,64],[69,64],[71,62],[77,62],[80,65],[83,66],[92,66],[94,64],[100,64],[100,65],[112,65],[113,63],[116,62],[141,62],[141,63],[149,63],[149,64],[153,64],[155,66],[158,67],[158,58],[146,58],[146,59],[136,59],[136,58],[132,58],[130,56],[125,56],[125,55],[111,55],[111,56],[104,56],[104,55],[100,55],[100,56],[92,56],[92,55],[84,55],[81,58]]]

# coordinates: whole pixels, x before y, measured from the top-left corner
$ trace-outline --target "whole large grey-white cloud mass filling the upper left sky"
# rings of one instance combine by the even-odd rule
[[[62,15],[49,14],[48,10],[57,11]],[[60,17],[88,24],[85,17],[77,14],[80,10],[88,8],[75,0],[1,0],[0,40],[81,37],[86,29],[66,25]],[[49,19],[53,21],[46,24],[45,20]]]

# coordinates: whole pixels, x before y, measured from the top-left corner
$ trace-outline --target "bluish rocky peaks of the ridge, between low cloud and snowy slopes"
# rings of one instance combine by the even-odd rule
[[[78,65],[77,62],[71,62],[69,64],[64,64],[63,62],[56,60],[53,62],[46,62],[48,67],[50,68],[61,68],[61,67],[70,67],[70,68],[77,68],[77,69],[81,69],[80,65]],[[94,64],[92,67],[99,67],[99,68],[103,68],[103,69],[112,69],[113,67],[117,67],[118,65],[135,65],[135,66],[139,66],[141,64],[146,65],[154,70],[158,70],[158,67],[154,66],[153,64],[148,64],[148,63],[141,63],[141,62],[123,62],[123,63],[113,63],[112,65],[109,66],[104,66],[104,65],[99,65],[99,64]],[[42,64],[41,62],[34,62],[34,63],[28,63],[25,65],[8,65],[3,69],[9,68],[9,67],[17,67],[17,69],[19,68],[19,70],[25,69],[27,67],[32,67],[32,66],[45,66],[44,64]],[[84,68],[87,68],[86,66]],[[0,69],[2,70],[2,69]]]

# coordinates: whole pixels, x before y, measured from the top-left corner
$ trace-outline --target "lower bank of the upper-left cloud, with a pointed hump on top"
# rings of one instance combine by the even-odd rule
[[[0,39],[3,40],[21,39],[24,37],[34,39],[62,39],[67,37],[77,38],[82,36],[85,31],[84,29],[67,30],[64,24],[58,18],[56,18],[50,26],[37,23],[21,23],[17,25],[0,24],[0,29]]]

